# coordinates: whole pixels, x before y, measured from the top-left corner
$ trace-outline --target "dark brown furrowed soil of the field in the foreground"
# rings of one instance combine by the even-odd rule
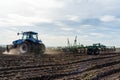
[[[120,53],[0,55],[0,80],[120,80]]]

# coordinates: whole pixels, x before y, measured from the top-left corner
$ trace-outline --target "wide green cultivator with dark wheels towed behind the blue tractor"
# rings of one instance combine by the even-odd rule
[[[67,53],[87,53],[88,55],[92,55],[92,54],[98,55],[100,53],[115,51],[115,46],[107,47],[100,43],[96,43],[90,46],[84,46],[82,44],[77,45],[77,37],[76,37],[73,45],[70,45],[68,39],[68,46],[64,47],[63,51]]]

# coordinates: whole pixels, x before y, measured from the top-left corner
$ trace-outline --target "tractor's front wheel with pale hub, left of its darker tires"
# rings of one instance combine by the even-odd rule
[[[30,52],[30,44],[28,42],[24,42],[19,45],[19,50],[21,54]]]

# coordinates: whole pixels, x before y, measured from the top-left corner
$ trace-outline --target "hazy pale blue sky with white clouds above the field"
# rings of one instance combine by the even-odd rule
[[[120,46],[120,0],[0,0],[0,44],[35,31],[46,46],[102,43]]]

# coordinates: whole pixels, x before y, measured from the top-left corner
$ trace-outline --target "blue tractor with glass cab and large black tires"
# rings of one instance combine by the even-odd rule
[[[21,54],[24,53],[40,53],[45,52],[45,45],[38,40],[38,33],[33,31],[18,33],[22,35],[22,39],[13,41],[13,45],[7,45],[7,52],[11,49],[17,49]]]

